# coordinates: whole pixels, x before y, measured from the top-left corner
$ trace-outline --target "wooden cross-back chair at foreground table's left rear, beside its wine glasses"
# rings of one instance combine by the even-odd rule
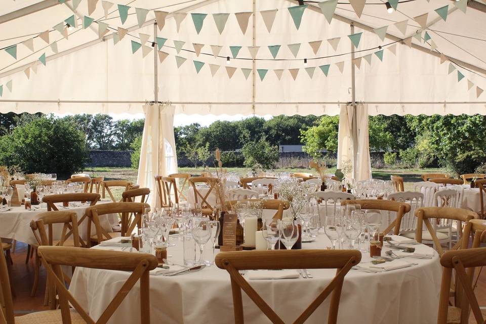
[[[87,237],[88,247],[91,247],[91,242],[100,244],[102,241],[119,236],[129,236],[135,226],[141,227],[142,215],[146,208],[150,205],[143,203],[107,203],[95,205],[86,209],[86,216],[88,217]],[[100,223],[99,216],[107,214],[121,214],[121,231],[107,232]],[[95,224],[96,234],[91,235],[91,224]]]

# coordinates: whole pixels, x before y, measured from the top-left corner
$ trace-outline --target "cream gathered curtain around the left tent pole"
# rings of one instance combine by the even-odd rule
[[[148,203],[160,207],[154,177],[177,173],[177,154],[174,139],[174,106],[144,105],[145,125],[137,183],[150,188]]]

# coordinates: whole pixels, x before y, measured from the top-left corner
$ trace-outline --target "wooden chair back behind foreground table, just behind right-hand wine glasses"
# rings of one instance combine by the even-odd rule
[[[388,226],[383,233],[386,235],[391,230],[393,234],[398,235],[400,232],[401,220],[403,215],[410,212],[410,204],[400,203],[400,201],[383,200],[383,199],[356,199],[356,200],[343,200],[341,205],[357,204],[361,206],[361,209],[377,209],[380,211],[395,212],[396,217],[392,221],[390,213],[387,213]]]

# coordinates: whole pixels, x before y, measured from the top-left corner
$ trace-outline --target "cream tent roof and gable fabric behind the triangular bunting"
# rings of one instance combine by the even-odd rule
[[[380,3],[382,0],[368,0],[367,3]],[[39,0],[6,0],[0,8],[0,17],[19,11]],[[307,8],[302,17],[299,30],[296,29],[287,8],[295,6],[297,2],[290,0],[257,1],[255,16],[251,16],[245,34],[241,32],[238,21],[234,15],[228,17],[223,32],[219,33],[213,17],[204,20],[203,28],[197,34],[190,13],[240,13],[253,11],[251,0],[195,0],[184,2],[182,0],[136,0],[129,4],[132,7],[125,24],[121,24],[116,5],[127,5],[129,2],[112,1],[115,5],[110,9],[113,13],[104,20],[110,27],[129,28],[137,26],[135,8],[155,9],[174,12],[180,10],[188,15],[182,21],[180,30],[176,30],[176,22],[171,15],[166,19],[162,30],[157,28],[157,36],[167,38],[168,41],[161,51],[169,53],[163,62],[158,64],[158,100],[170,102],[202,102],[201,104],[177,104],[176,113],[199,114],[339,114],[340,103],[351,101],[351,62],[350,55],[339,55],[351,51],[351,43],[347,35],[350,32],[349,23],[343,20],[350,19],[371,28],[391,25],[403,21],[408,17],[416,17],[429,13],[428,23],[439,18],[434,9],[450,5],[450,14],[447,21],[439,18],[428,33],[437,50],[449,57],[456,58],[478,69],[486,70],[486,13],[468,8],[466,14],[455,8],[449,0],[430,0],[430,2],[416,0],[409,3],[400,3],[398,11],[388,14],[385,5],[366,5],[360,18],[357,18],[350,5],[339,4],[335,14],[344,19],[334,18],[329,24],[317,7],[317,11]],[[184,4],[181,4],[184,2]],[[77,7],[80,16],[88,15],[88,1],[83,0]],[[71,1],[66,2],[67,5]],[[73,15],[66,4],[55,5],[50,8],[14,19],[0,26],[0,48],[13,43],[25,41]],[[309,4],[310,6],[316,4]],[[189,9],[185,9],[188,8]],[[278,9],[271,33],[263,21],[261,11]],[[407,17],[408,16],[408,17]],[[100,19],[104,17],[101,2],[90,17]],[[154,19],[153,11],[149,11],[147,21]],[[253,19],[256,19],[256,46],[260,46],[256,61],[256,69],[268,69],[263,80],[255,70],[255,93],[253,93],[253,73],[248,79],[240,68],[252,69],[252,60],[231,59],[230,66],[237,70],[231,78],[226,71],[226,56],[233,57],[229,46],[242,46],[238,58],[251,58],[249,46],[253,45]],[[81,19],[78,20],[81,25]],[[57,31],[50,33],[51,42],[59,40],[59,53],[55,58],[51,48],[39,37],[34,39],[34,49],[17,47],[16,62],[7,52],[0,51],[0,85],[13,81],[12,93],[4,89],[0,102],[0,112],[58,112],[58,113],[96,113],[96,112],[142,112],[143,101],[154,99],[154,56],[150,53],[142,58],[142,51],[132,54],[131,41],[140,42],[139,33],[149,34],[149,42],[154,39],[154,27],[147,24],[140,29],[129,32],[121,41],[113,45],[111,32],[104,41],[98,41],[97,25],[94,30],[78,28],[74,33],[64,39]],[[137,26],[138,27],[138,26]],[[136,28],[136,27],[135,27]],[[419,29],[419,24],[409,19],[407,36]],[[377,47],[393,41],[386,37],[382,42],[373,32],[354,28],[355,33],[363,32],[357,51],[372,49],[356,53],[356,57],[373,54]],[[393,36],[403,38],[401,32],[390,26],[387,32]],[[455,36],[451,33],[463,35]],[[30,36],[25,36],[30,35]],[[15,39],[11,39],[17,37]],[[337,50],[334,51],[327,39],[343,37]],[[4,40],[10,39],[10,40]],[[177,68],[176,51],[173,41],[185,42],[183,51],[179,56],[187,61]],[[322,41],[322,45],[314,54],[308,42]],[[88,47],[82,45],[90,43]],[[301,43],[301,47],[294,56],[287,45]],[[201,54],[193,53],[192,44],[204,44]],[[430,48],[428,44],[413,39],[413,44]],[[150,44],[147,43],[146,46]],[[219,58],[213,56],[210,45],[222,46]],[[277,59],[294,59],[294,61],[275,61],[267,49],[271,45],[281,45]],[[449,61],[440,64],[440,59],[429,53],[409,48],[407,45],[396,45],[396,55],[385,48],[383,62],[374,56],[371,65],[362,61],[360,68],[356,68],[356,100],[372,102],[368,105],[369,113],[375,114],[420,114],[420,113],[481,113],[486,114],[484,104],[471,102],[486,101],[486,95],[476,99],[474,89],[468,91],[467,79],[482,89],[486,89],[486,75],[480,72],[470,72],[460,69],[465,78],[458,83],[457,76],[448,74]],[[63,52],[72,50],[67,55]],[[186,51],[188,50],[188,51]],[[30,73],[27,79],[24,69],[9,74],[16,68],[25,64],[38,64],[37,58],[46,53],[47,66],[37,66],[37,73]],[[315,57],[338,55],[326,59],[312,59]],[[24,59],[23,59],[24,58]],[[158,60],[158,57],[156,57]],[[303,59],[308,59],[308,67],[316,67],[313,78],[305,71]],[[196,73],[191,60],[204,62],[205,65]],[[344,61],[344,71],[341,73],[335,63]],[[210,64],[221,65],[212,76]],[[331,64],[328,76],[318,68],[319,65]],[[300,68],[294,80],[288,69]],[[281,78],[272,70],[285,69]],[[7,75],[8,74],[8,75]],[[5,87],[4,87],[5,88]],[[248,104],[257,103],[272,104]],[[36,102],[22,102],[32,100]],[[60,103],[56,103],[56,101]],[[116,101],[117,103],[69,103],[66,101]],[[53,102],[38,102],[53,101]],[[216,103],[209,105],[208,102]],[[230,102],[245,104],[228,104]],[[292,104],[279,104],[291,102]],[[305,104],[305,103],[312,104]],[[394,102],[400,104],[386,104]],[[435,104],[421,105],[412,102],[435,102]],[[443,102],[467,102],[464,104],[446,104]],[[220,104],[218,104],[220,103]]]

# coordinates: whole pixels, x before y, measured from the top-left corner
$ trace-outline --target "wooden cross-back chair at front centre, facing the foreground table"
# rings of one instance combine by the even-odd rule
[[[258,295],[238,270],[253,269],[336,269],[336,276],[314,299],[314,301],[294,321],[304,323],[310,315],[331,295],[328,323],[335,324],[338,317],[339,300],[344,276],[361,260],[361,253],[354,250],[281,250],[250,251],[249,253],[221,252],[215,263],[218,268],[228,271],[233,293],[234,322],[244,323],[244,308],[241,296],[243,290],[258,308],[273,323],[284,321]]]

